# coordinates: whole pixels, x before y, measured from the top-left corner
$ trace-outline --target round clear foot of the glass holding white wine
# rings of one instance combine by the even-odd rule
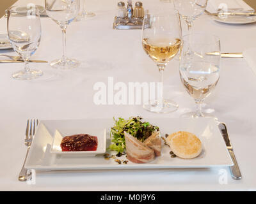
[[[144,104],[143,108],[149,112],[155,113],[171,113],[175,112],[179,105],[172,100],[164,99],[163,105],[157,100],[149,101],[148,104]]]

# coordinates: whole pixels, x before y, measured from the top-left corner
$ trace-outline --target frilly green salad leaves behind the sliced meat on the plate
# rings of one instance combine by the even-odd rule
[[[142,117],[130,117],[128,120],[122,119],[115,120],[115,125],[111,128],[111,145],[110,150],[115,150],[118,153],[122,153],[125,150],[125,138],[124,132],[131,134],[141,142],[144,142],[154,131],[159,131],[157,126],[153,126],[149,122],[142,122]]]

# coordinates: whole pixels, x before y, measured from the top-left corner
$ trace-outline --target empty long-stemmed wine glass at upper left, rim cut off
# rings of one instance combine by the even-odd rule
[[[76,68],[80,64],[79,61],[66,56],[66,29],[77,16],[79,0],[45,0],[45,10],[47,15],[60,25],[62,31],[63,55],[61,59],[52,61],[50,65],[60,69]]]

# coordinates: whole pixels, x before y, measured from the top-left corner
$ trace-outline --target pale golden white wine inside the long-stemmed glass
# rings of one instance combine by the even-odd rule
[[[142,45],[154,62],[166,64],[179,52],[180,39],[144,38]]]

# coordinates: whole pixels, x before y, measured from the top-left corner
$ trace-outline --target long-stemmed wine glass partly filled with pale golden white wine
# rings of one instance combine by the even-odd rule
[[[163,73],[168,62],[179,52],[180,44],[179,11],[165,10],[147,14],[143,22],[142,46],[148,57],[156,63],[161,84],[158,98],[143,105],[143,108],[150,112],[169,113],[179,107],[174,101],[163,98]]]

